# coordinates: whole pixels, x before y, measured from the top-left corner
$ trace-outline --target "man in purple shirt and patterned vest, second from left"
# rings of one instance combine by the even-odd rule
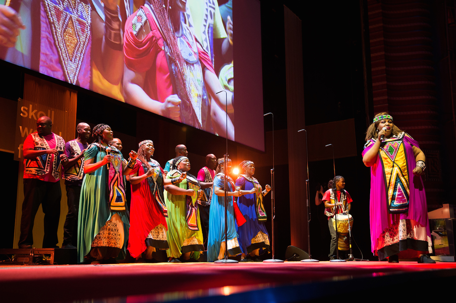
[[[76,248],[78,243],[78,212],[79,197],[84,177],[84,152],[87,149],[87,140],[90,138],[91,129],[87,123],[79,123],[76,126],[78,137],[65,144],[65,153],[69,161],[63,164],[67,189],[68,213],[63,225],[62,248]]]

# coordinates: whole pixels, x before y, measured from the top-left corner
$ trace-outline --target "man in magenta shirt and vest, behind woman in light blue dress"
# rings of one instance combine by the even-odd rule
[[[201,182],[211,183],[210,187],[203,189],[204,195],[201,200],[198,200],[201,226],[204,226],[206,233],[203,232],[204,248],[207,249],[207,236],[209,235],[209,209],[211,207],[212,198],[212,182],[215,175],[215,167],[217,167],[217,158],[213,154],[206,156],[206,166],[199,170],[197,179]]]

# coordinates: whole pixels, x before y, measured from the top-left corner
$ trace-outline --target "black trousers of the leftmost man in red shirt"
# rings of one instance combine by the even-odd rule
[[[33,223],[41,204],[44,212],[43,248],[57,246],[61,198],[60,180],[45,182],[39,179],[24,179],[24,202],[22,202],[19,245],[33,245]]]

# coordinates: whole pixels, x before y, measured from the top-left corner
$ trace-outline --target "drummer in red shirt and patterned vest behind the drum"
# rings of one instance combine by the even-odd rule
[[[344,188],[345,179],[342,176],[336,176],[332,182],[332,188],[328,189],[321,199],[321,201],[325,203],[326,216],[328,216],[328,227],[329,232],[331,233],[331,245],[328,255],[330,260],[337,258],[337,237],[336,231],[332,226],[332,218],[336,213],[347,214],[352,207],[352,197],[350,197],[350,194]],[[334,192],[337,192],[337,197],[334,196]],[[345,251],[339,251],[339,258],[342,259],[341,253],[345,255]]]

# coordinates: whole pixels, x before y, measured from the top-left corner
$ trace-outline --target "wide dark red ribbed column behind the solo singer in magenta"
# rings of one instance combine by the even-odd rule
[[[394,124],[420,143],[426,156],[423,181],[428,207],[438,208],[444,190],[432,7],[419,0],[368,0],[367,4],[374,114],[389,112]]]

